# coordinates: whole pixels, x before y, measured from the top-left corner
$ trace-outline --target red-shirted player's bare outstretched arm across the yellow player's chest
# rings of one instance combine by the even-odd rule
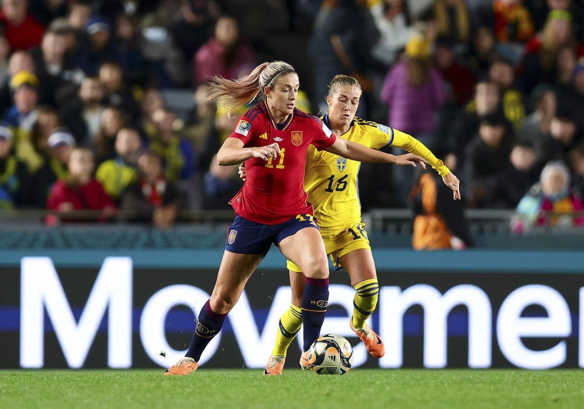
[[[427,163],[424,158],[418,155],[411,153],[405,155],[387,154],[353,141],[347,141],[343,138],[336,138],[335,143],[327,148],[326,151],[360,162],[390,163],[398,166],[411,166],[414,168],[417,165],[420,165],[424,169],[426,169]]]

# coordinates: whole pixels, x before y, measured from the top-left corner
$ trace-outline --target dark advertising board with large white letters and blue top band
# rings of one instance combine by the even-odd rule
[[[221,253],[0,252],[0,367],[171,365],[190,342]],[[344,272],[331,275],[323,332],[349,338],[355,366],[584,366],[584,252],[374,254],[381,292],[371,325],[385,341],[382,359],[350,332],[353,289]],[[263,368],[289,302],[284,260],[272,249],[201,363]],[[295,342],[289,356],[299,352]]]

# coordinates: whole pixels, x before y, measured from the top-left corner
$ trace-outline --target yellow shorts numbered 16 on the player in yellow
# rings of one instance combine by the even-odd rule
[[[371,249],[369,245],[369,238],[364,229],[364,223],[353,224],[353,226],[342,231],[337,231],[334,234],[329,234],[325,229],[321,228],[322,240],[325,242],[326,254],[331,258],[335,270],[342,268],[339,263],[339,258],[345,254],[350,253],[360,248]],[[290,260],[286,261],[286,266],[290,271],[301,273],[302,270]]]

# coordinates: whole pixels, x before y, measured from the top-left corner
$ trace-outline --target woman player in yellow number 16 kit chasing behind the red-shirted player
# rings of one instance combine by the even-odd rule
[[[435,169],[447,186],[453,190],[453,199],[460,199],[458,178],[450,172],[420,141],[383,124],[355,117],[361,97],[359,82],[347,75],[336,75],[329,84],[326,103],[328,114],[322,120],[336,136],[371,148],[386,145],[402,148],[423,157]],[[304,189],[314,206],[326,252],[335,269],[340,266],[349,274],[356,290],[350,328],[359,336],[367,351],[376,358],[385,353],[383,342],[366,324],[377,306],[379,286],[373,254],[364,224],[357,190],[360,162],[345,159],[325,151],[309,148],[307,153]],[[240,172],[245,178],[245,171]],[[290,309],[280,318],[276,346],[272,351],[264,375],[281,375],[286,351],[302,325],[301,301],[304,275],[298,266],[287,262],[292,288]]]

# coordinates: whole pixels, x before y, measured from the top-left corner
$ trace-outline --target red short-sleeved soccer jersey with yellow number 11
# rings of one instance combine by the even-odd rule
[[[277,142],[280,155],[265,161],[245,161],[245,183],[231,199],[235,212],[262,224],[278,224],[297,214],[312,214],[304,191],[304,165],[309,145],[323,150],[335,143],[336,136],[317,117],[294,109],[286,123],[276,127],[264,102],[239,119],[230,137],[245,147]]]

